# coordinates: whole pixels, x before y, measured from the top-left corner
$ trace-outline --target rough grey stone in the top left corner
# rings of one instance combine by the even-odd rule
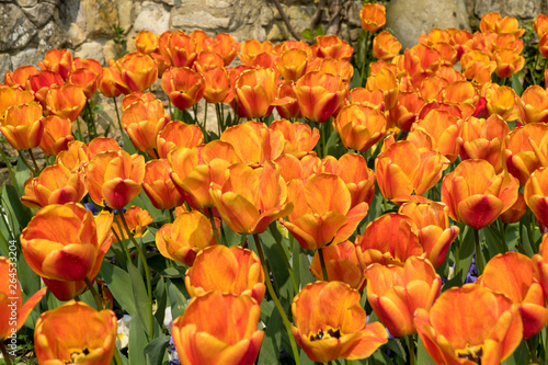
[[[37,33],[18,5],[0,4],[0,52],[25,47]]]

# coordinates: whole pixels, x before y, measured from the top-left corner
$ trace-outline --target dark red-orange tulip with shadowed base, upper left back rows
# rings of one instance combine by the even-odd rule
[[[173,105],[180,110],[196,104],[205,91],[204,78],[186,67],[172,67],[163,72],[161,85]]]

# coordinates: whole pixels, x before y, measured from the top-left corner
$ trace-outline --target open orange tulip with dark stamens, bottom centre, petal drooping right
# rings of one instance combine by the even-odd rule
[[[308,284],[293,299],[292,312],[293,335],[315,362],[365,358],[388,342],[380,322],[366,323],[359,293],[341,282]]]

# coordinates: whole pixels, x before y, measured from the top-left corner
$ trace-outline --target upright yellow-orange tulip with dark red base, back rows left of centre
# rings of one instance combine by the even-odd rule
[[[250,69],[236,80],[237,112],[239,116],[254,118],[272,113],[276,75],[274,69]]]

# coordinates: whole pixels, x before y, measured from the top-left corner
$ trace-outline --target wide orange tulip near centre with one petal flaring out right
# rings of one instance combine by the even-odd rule
[[[284,226],[307,250],[320,249],[349,239],[367,215],[367,203],[352,207],[352,195],[344,181],[330,173],[287,184],[289,204],[295,209]]]

